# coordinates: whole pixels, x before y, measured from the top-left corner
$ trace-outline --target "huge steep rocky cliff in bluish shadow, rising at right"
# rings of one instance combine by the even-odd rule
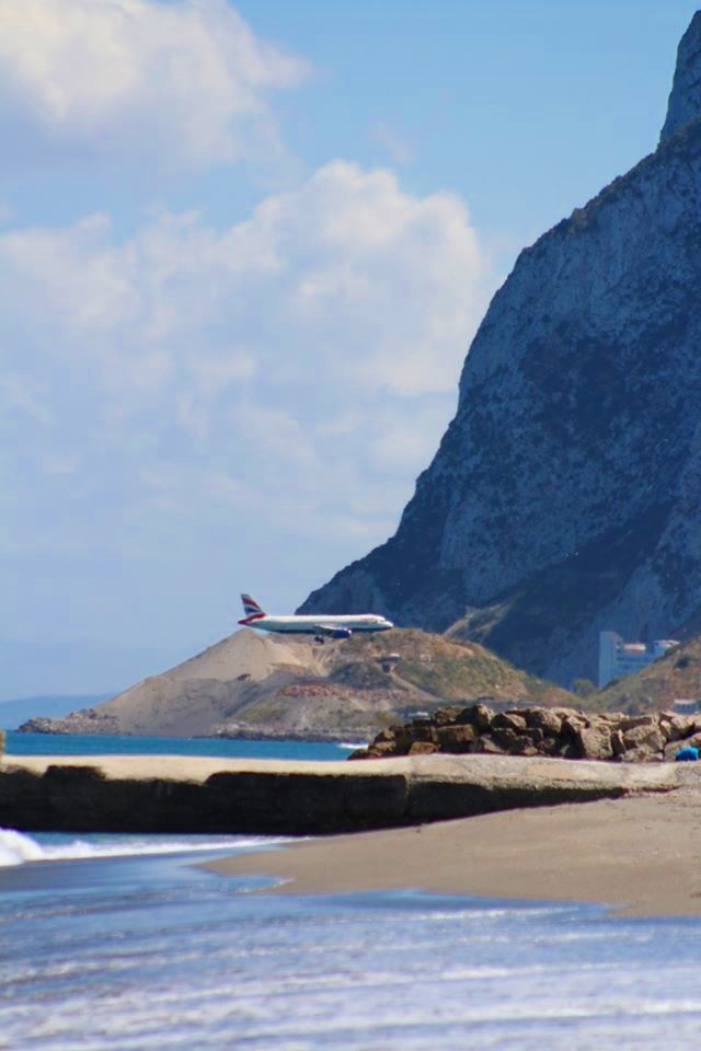
[[[452,628],[562,683],[701,624],[701,13],[656,151],[519,255],[397,534],[303,612]]]

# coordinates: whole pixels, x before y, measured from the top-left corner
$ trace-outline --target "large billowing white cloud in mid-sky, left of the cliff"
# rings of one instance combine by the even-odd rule
[[[119,242],[99,216],[0,235],[25,476],[88,544],[129,515],[124,542],[146,543],[168,511],[169,532],[264,523],[360,554],[455,407],[486,270],[457,197],[341,161],[223,231],[162,216]],[[41,520],[27,543],[53,542],[60,516]]]

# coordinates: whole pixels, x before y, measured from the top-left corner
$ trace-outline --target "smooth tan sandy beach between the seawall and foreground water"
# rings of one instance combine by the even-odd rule
[[[701,793],[685,787],[307,840],[208,867],[286,881],[266,893],[412,888],[701,915]]]

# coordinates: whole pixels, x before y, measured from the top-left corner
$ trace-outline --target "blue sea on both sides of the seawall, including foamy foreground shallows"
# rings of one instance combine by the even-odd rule
[[[273,743],[152,739],[148,748],[323,760],[353,746],[279,742],[272,753]],[[145,751],[147,739],[136,744]],[[104,752],[107,739],[11,735],[8,742],[15,753],[88,747]],[[108,749],[134,751],[135,740],[113,738]],[[421,888],[261,894],[274,885],[266,854],[288,842],[0,830],[0,1048],[675,1051],[699,1043],[696,920],[614,919],[598,905]],[[254,878],[202,867],[252,851],[261,858]]]

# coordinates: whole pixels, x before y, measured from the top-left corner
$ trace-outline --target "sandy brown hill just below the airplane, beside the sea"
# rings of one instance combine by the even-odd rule
[[[243,630],[176,668],[65,719],[24,729],[172,737],[343,739],[446,702],[565,704],[564,691],[476,644],[415,630],[319,645]]]

